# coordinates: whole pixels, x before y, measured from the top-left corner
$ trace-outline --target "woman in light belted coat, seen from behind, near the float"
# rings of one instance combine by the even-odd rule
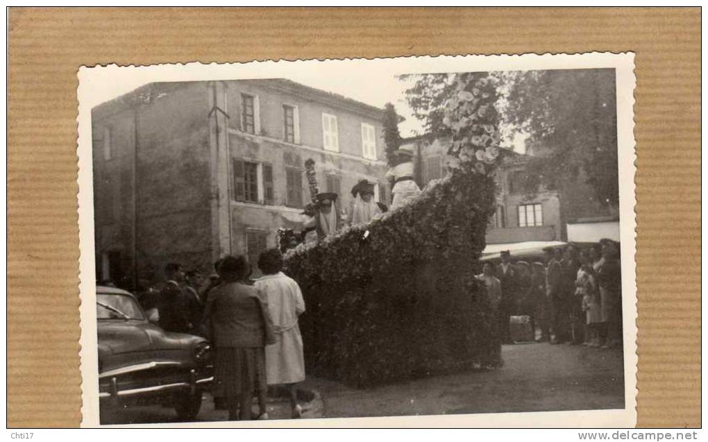
[[[256,289],[268,304],[273,318],[275,344],[265,347],[265,373],[268,385],[286,385],[290,392],[292,417],[302,415],[297,404],[297,383],[305,379],[302,335],[297,317],[304,313],[305,303],[297,282],[282,270],[282,255],[270,249],[258,257],[263,277],[256,281]]]

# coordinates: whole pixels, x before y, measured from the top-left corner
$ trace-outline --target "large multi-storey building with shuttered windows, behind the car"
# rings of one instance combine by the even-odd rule
[[[150,83],[92,110],[98,279],[151,281],[166,262],[253,261],[302,228],[304,162],[340,195],[384,178],[383,110],[282,78]]]

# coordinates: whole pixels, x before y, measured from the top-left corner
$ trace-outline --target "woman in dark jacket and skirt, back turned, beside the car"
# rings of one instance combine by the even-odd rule
[[[215,381],[224,392],[231,420],[251,419],[254,387],[258,418],[267,418],[265,345],[275,343],[275,335],[268,306],[244,283],[248,272],[244,257],[224,257],[219,266],[222,284],[209,293],[205,308],[207,333],[216,347]]]

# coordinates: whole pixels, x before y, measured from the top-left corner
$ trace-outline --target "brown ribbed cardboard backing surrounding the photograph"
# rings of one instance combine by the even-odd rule
[[[700,8],[11,8],[7,425],[78,426],[81,65],[636,53],[639,426],[700,426]]]

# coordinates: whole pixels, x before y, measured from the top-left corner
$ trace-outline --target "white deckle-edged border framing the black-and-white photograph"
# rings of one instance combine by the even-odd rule
[[[91,104],[87,97],[120,81],[214,81],[274,78],[311,74],[313,78],[367,69],[392,75],[466,71],[527,71],[547,69],[616,69],[617,150],[619,162],[619,219],[622,252],[622,312],[624,323],[624,409],[560,412],[442,414],[433,416],[323,418],[280,421],[213,421],[169,424],[130,424],[139,428],[207,427],[633,427],[636,424],[636,219],[634,206],[634,54],[590,52],[586,54],[467,55],[396,57],[377,59],[327,59],[265,61],[234,64],[156,64],[150,66],[81,66],[79,69],[79,291],[81,293],[81,426],[101,426],[98,419],[98,358],[96,298],[93,160],[91,152]],[[108,81],[110,79],[110,81]],[[102,426],[115,427],[115,426]]]

